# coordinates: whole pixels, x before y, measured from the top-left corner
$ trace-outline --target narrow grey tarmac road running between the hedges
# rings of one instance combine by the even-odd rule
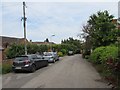
[[[65,56],[35,73],[3,75],[3,88],[107,88],[93,66],[80,54]]]

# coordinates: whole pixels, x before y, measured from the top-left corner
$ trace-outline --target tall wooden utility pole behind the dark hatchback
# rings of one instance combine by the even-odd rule
[[[24,26],[24,45],[25,45],[25,55],[27,55],[27,43],[26,43],[26,20],[27,18],[25,17],[25,2],[23,2],[23,26]]]

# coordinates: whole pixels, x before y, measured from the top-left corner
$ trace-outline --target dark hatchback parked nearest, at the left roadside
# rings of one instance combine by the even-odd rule
[[[22,55],[15,58],[13,61],[12,69],[14,72],[17,72],[19,70],[34,72],[36,69],[47,65],[48,60],[44,59],[41,55]]]

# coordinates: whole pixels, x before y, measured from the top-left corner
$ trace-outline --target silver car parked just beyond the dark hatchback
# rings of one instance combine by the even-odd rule
[[[44,57],[44,59],[47,59],[48,62],[53,62],[53,63],[55,63],[55,61],[59,60],[57,52],[44,52],[43,57]]]

